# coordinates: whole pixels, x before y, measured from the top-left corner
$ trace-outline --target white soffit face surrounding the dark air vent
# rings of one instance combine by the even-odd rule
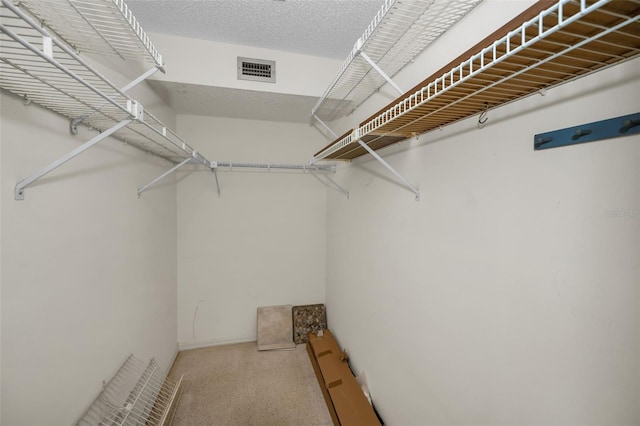
[[[153,34],[157,48],[169,64],[166,74],[153,78],[187,84],[321,96],[341,61],[308,55],[239,46],[206,40]],[[263,83],[237,78],[237,58],[276,61],[276,82]]]

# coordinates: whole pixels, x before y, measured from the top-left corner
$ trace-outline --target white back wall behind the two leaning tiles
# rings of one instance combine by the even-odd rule
[[[304,124],[178,116],[211,160],[306,163],[325,141]],[[178,342],[256,339],[259,306],[324,303],[326,189],[311,175],[180,173]]]

